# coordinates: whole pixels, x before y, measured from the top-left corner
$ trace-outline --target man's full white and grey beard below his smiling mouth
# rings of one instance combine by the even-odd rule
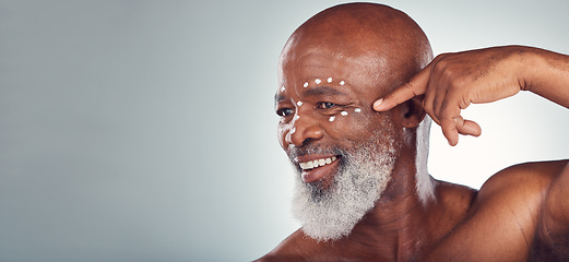
[[[305,183],[296,176],[293,215],[300,221],[305,234],[318,241],[337,240],[349,235],[374,209],[394,166],[392,140],[380,146],[378,139],[355,152],[343,152],[340,170],[328,189],[319,183]]]

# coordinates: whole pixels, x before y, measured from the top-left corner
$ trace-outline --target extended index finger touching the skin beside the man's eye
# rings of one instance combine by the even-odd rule
[[[415,74],[407,83],[374,103],[376,111],[387,111],[415,96],[425,94],[430,76],[430,64]]]

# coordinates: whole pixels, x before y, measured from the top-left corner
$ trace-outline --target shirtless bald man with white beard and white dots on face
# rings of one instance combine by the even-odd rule
[[[472,103],[530,91],[568,107],[569,57],[511,46],[432,59],[407,15],[354,3],[296,29],[278,69],[303,227],[259,261],[569,259],[568,160],[509,167],[479,191],[427,172],[430,119],[455,145],[481,133],[460,116]]]

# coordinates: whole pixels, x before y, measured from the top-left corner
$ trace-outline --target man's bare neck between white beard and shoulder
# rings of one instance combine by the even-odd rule
[[[345,239],[351,249],[372,250],[386,259],[411,260],[437,237],[431,228],[437,228],[443,209],[435,198],[436,180],[427,174],[426,165],[416,165],[426,158],[417,158],[420,157],[408,154],[398,159],[376,206]]]

